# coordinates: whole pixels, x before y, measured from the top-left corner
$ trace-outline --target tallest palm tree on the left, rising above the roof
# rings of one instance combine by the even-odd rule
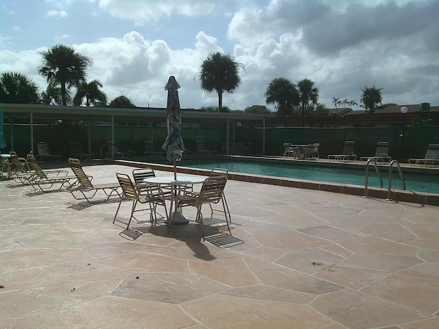
[[[65,45],[56,45],[40,54],[43,65],[38,67],[38,72],[47,82],[61,87],[62,105],[67,105],[67,90],[86,81],[86,69],[93,61]]]

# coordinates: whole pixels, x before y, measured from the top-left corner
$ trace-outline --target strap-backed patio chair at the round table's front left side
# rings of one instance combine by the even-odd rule
[[[117,180],[122,188],[122,196],[119,201],[119,206],[117,206],[117,210],[115,213],[115,218],[112,223],[115,221],[119,221],[121,223],[125,223],[119,219],[117,219],[117,213],[119,212],[119,208],[121,207],[122,201],[124,199],[132,200],[131,213],[130,218],[128,219],[128,223],[126,223],[126,229],[130,228],[130,223],[132,218],[134,217],[134,212],[150,210],[150,221],[151,223],[157,223],[157,206],[161,205],[165,208],[166,218],[167,218],[167,208],[165,203],[165,197],[157,185],[152,184],[143,184],[142,188],[136,188],[132,183],[130,176],[125,173],[116,173]],[[148,208],[136,209],[137,204],[149,204]]]

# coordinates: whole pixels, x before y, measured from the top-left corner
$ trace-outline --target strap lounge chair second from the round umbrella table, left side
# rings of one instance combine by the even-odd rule
[[[36,158],[33,154],[27,154],[27,163],[29,163],[30,167],[34,170],[32,175],[27,179],[27,182],[29,182],[33,188],[42,192],[47,191],[55,184],[60,184],[60,187],[56,190],[60,191],[61,188],[69,184],[70,180],[76,180],[76,177],[69,175],[69,171],[66,170],[43,171],[36,162]]]

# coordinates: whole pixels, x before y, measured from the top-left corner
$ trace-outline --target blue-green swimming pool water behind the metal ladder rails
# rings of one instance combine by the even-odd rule
[[[169,164],[169,162],[165,163]],[[229,172],[252,173],[255,175],[266,175],[285,178],[298,178],[301,180],[315,180],[318,182],[330,182],[339,184],[351,184],[364,186],[364,169],[338,169],[327,167],[307,167],[300,164],[282,164],[270,162],[239,162],[219,159],[183,159],[178,162],[180,167],[194,167],[200,169],[227,168]],[[383,187],[388,188],[388,169],[381,170]],[[405,186],[407,191],[417,191],[423,193],[439,193],[439,174],[422,175],[404,173]],[[374,167],[369,168],[368,185],[379,187],[379,178]],[[399,178],[399,173],[394,169],[392,173],[392,190],[403,189],[403,183]]]

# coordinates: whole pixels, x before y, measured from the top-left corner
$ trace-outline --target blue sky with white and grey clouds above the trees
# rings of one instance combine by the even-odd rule
[[[319,103],[356,101],[381,89],[383,103],[439,106],[439,0],[0,0],[0,73],[19,72],[40,91],[40,52],[69,45],[93,60],[108,102],[165,108],[170,75],[180,106],[217,106],[200,88],[216,51],[244,64],[223,106],[266,104],[276,77],[316,82]]]

